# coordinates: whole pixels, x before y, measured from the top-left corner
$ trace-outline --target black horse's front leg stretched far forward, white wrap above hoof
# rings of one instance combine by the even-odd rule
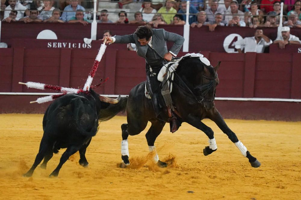
[[[213,108],[212,112],[209,114],[209,119],[214,121],[216,125],[237,146],[241,154],[243,154],[244,157],[247,157],[249,159],[249,162],[251,163],[252,167],[259,167],[261,165],[260,162],[250,154],[250,152],[247,150],[244,144],[237,139],[235,133],[227,126],[222,115],[219,113],[219,111],[216,108]]]

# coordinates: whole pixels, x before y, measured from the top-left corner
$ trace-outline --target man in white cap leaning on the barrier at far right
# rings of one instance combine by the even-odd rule
[[[284,49],[287,44],[301,44],[298,37],[290,34],[290,27],[284,26],[281,29],[281,35],[279,35],[274,44],[279,44],[280,49]]]

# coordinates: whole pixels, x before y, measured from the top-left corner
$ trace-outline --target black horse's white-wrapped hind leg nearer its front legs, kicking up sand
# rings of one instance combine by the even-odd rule
[[[159,156],[157,154],[156,147],[154,144],[155,144],[156,138],[160,135],[164,125],[165,125],[164,122],[152,121],[150,129],[145,134],[150,152],[154,151],[154,153],[155,153],[154,162],[157,163],[158,166],[160,166],[160,167],[166,167],[167,164],[159,160]]]

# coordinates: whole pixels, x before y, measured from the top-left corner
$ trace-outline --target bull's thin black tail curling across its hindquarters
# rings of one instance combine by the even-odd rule
[[[81,117],[82,113],[87,112],[87,110],[85,110],[85,105],[82,102],[85,100],[86,99],[82,97],[76,97],[75,99],[72,100],[74,106],[73,114],[75,118],[75,124],[77,130],[79,130],[82,134],[93,137],[96,135],[98,131],[98,116],[96,115],[95,111],[91,112],[91,113],[95,113],[95,116],[92,117],[93,121],[91,122],[88,122],[85,120],[85,118]]]

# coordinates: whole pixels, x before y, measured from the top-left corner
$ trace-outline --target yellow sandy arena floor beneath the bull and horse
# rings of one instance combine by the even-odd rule
[[[48,178],[64,150],[47,169],[33,164],[42,137],[43,115],[0,115],[0,199],[301,199],[301,122],[226,120],[250,153],[261,162],[252,168],[228,137],[209,120],[218,150],[203,155],[208,138],[183,124],[169,133],[165,126],[155,143],[167,168],[147,161],[144,137],[129,136],[131,166],[121,163],[120,125],[126,117],[102,122],[87,149],[88,168],[74,154],[58,178]],[[193,191],[194,193],[188,193]]]

